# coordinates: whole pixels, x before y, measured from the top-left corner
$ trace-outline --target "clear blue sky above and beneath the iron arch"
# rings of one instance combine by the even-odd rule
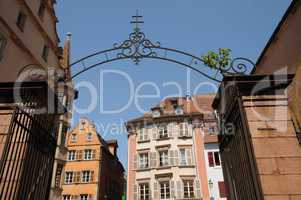
[[[220,47],[230,48],[233,57],[247,57],[254,62],[259,57],[273,30],[290,4],[290,0],[64,0],[56,6],[59,19],[58,31],[63,41],[67,32],[72,33],[72,60],[90,53],[113,47],[115,42],[128,38],[133,26],[131,16],[139,9],[144,16],[142,26],[146,36],[152,41],[160,41],[162,46],[180,49],[200,56],[208,50]],[[94,60],[97,61],[97,58]],[[187,70],[157,60],[145,60],[139,66],[122,61],[94,68],[74,80],[75,83],[88,81],[97,89],[91,95],[87,89],[79,89],[79,99],[75,105],[85,108],[91,98],[98,106],[92,112],[80,115],[74,113],[74,122],[80,116],[93,120],[105,139],[118,139],[119,157],[127,167],[127,136],[122,129],[123,122],[137,116],[134,102],[123,112],[104,114],[105,110],[123,107],[129,99],[129,82],[120,75],[107,74],[101,85],[100,73],[103,69],[121,70],[133,80],[135,90],[145,81],[156,84],[160,97],[141,100],[140,105],[147,110],[160,99],[175,94],[173,81],[183,88],[183,95],[193,94],[194,88],[207,79],[191,72],[187,81]],[[103,86],[103,87],[102,87]],[[101,88],[104,88],[103,90]],[[142,87],[140,94],[155,94],[150,85]],[[214,92],[211,87],[201,87],[196,92]],[[116,127],[114,124],[118,124]],[[118,132],[118,133],[116,133]]]

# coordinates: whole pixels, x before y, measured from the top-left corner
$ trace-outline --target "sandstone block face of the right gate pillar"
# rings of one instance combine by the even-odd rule
[[[266,200],[301,200],[301,146],[287,96],[244,97],[258,178]]]

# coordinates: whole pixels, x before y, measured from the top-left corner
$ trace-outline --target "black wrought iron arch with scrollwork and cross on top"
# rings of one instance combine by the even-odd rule
[[[73,74],[72,78],[75,78],[96,66],[126,59],[131,59],[136,65],[138,65],[142,59],[165,60],[189,68],[216,82],[221,82],[225,75],[243,75],[248,69],[254,67],[254,63],[251,60],[242,57],[233,59],[230,65],[226,67],[207,67],[204,64],[204,60],[198,56],[185,51],[163,47],[159,42],[153,43],[146,38],[145,34],[138,27],[139,24],[143,23],[140,20],[142,16],[137,14],[136,16],[133,16],[133,18],[135,21],[131,23],[135,23],[136,27],[134,28],[134,31],[130,33],[127,40],[120,44],[115,43],[111,49],[90,54],[73,62],[70,67],[74,67],[81,63],[82,68]],[[171,56],[171,54],[173,56]],[[84,64],[86,60],[96,56],[98,56],[98,59],[101,58],[101,60],[89,66]],[[205,69],[207,71],[205,71]]]

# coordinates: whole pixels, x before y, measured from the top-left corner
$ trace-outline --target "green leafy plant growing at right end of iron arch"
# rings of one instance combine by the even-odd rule
[[[230,54],[230,49],[219,48],[217,53],[208,51],[207,54],[201,56],[201,59],[203,60],[204,64],[210,68],[223,69],[230,64]]]

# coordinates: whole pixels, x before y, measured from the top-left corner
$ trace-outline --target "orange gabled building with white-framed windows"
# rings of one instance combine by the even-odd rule
[[[117,157],[117,141],[105,141],[88,119],[80,119],[67,134],[63,200],[121,199],[124,169]]]

